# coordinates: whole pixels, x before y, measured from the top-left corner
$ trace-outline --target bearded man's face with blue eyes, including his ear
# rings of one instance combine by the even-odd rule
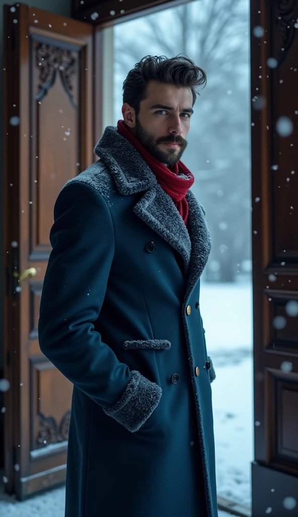
[[[150,81],[146,92],[139,115],[136,117],[134,108],[126,102],[122,106],[123,118],[143,146],[170,167],[181,159],[188,144],[185,139],[192,115],[191,89]]]

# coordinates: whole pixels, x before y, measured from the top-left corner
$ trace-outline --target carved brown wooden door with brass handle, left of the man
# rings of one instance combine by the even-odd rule
[[[5,490],[65,480],[72,384],[41,353],[39,303],[53,208],[94,161],[92,26],[4,6]]]

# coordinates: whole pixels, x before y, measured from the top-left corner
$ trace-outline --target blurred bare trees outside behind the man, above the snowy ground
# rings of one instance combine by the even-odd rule
[[[114,30],[115,65],[121,77],[132,64],[155,52],[167,57],[185,54],[207,73],[207,87],[196,102],[188,137],[196,152],[188,159],[198,179],[194,192],[204,196],[212,225],[210,260],[220,262],[222,280],[233,281],[239,269],[236,263],[251,253],[249,239],[243,239],[243,233],[249,235],[251,214],[249,99],[248,88],[238,86],[243,70],[249,70],[249,36],[244,36],[249,31],[249,0],[196,0]],[[222,156],[227,165],[220,169],[214,163]],[[206,165],[212,159],[214,163]]]

